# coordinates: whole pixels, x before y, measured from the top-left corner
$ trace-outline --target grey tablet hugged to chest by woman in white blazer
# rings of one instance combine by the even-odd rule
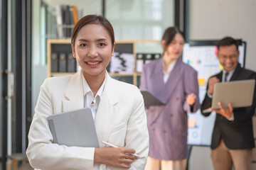
[[[68,147],[100,147],[90,108],[48,117],[53,142]]]

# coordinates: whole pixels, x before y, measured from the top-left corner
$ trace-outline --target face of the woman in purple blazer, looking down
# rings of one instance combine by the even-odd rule
[[[171,43],[166,47],[164,55],[166,55],[166,57],[169,57],[171,60],[178,59],[178,57],[181,55],[181,52],[183,50],[183,45],[184,45],[183,36],[177,33],[174,36],[174,40],[172,40]]]

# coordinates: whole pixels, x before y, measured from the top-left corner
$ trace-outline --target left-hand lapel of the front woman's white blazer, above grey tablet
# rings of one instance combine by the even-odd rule
[[[68,82],[63,100],[63,111],[72,111],[84,107],[84,96],[82,87],[82,72],[78,71]]]

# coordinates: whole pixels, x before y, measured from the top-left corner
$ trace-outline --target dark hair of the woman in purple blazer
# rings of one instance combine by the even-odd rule
[[[164,31],[162,40],[165,40],[165,47],[171,44],[171,41],[174,40],[174,37],[177,33],[181,34],[184,38],[183,32],[181,32],[181,30],[179,30],[177,27],[169,27]]]

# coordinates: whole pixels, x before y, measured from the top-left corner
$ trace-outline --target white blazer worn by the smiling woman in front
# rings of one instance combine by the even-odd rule
[[[82,72],[67,77],[51,77],[41,86],[35,115],[28,133],[28,156],[31,166],[42,170],[117,169],[94,164],[95,148],[66,147],[53,144],[48,116],[84,107]],[[136,150],[140,158],[130,169],[144,169],[149,152],[149,134],[142,94],[136,86],[112,79],[107,74],[105,88],[95,117],[101,141]]]

